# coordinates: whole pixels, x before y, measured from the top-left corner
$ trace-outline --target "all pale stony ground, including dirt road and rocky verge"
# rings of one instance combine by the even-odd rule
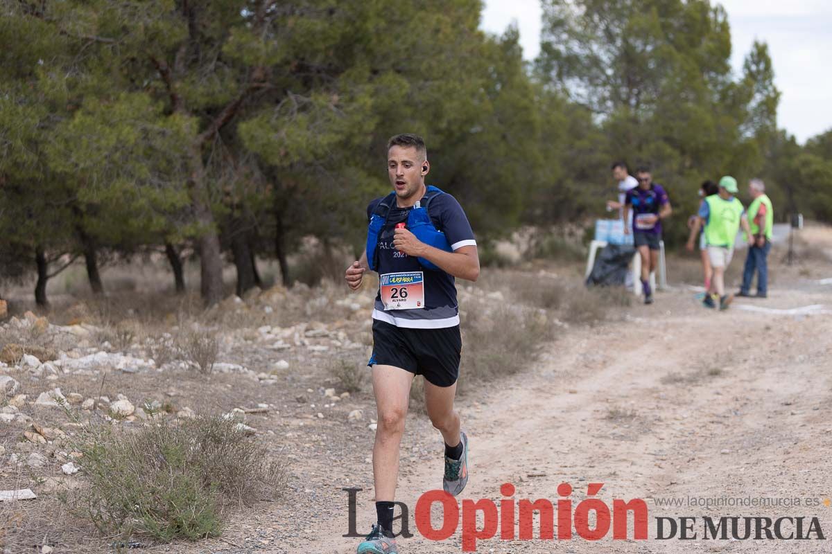
[[[825,463],[832,453],[829,236],[818,233],[820,254],[795,267],[781,264],[775,250],[770,298],[737,301],[725,313],[702,309],[685,284],[696,282],[696,264],[671,259],[673,287],[653,306],[614,306],[592,325],[550,313],[557,334],[539,351],[516,353],[523,370],[467,387],[458,401],[472,444],[464,498],[498,502],[500,485],[513,483],[516,498],[554,502],[558,484],[570,483],[577,504],[587,498],[587,483],[604,483],[598,498],[643,498],[651,517],[647,541],[492,539],[478,542],[478,552],[828,552],[825,541],[656,541],[653,518],[737,512],[662,507],[663,498],[796,496],[820,504],[741,513],[816,516],[832,534],[832,507],[823,503],[832,497]],[[686,269],[674,279],[676,267]],[[520,271],[577,281],[579,269]],[[513,272],[498,275],[461,287],[463,310],[509,302]],[[366,381],[350,392],[334,372],[360,375],[372,296],[371,287],[354,295],[341,287],[278,287],[153,326],[141,312],[105,326],[78,306],[6,321],[0,489],[37,495],[0,504],[6,552],[112,552],[111,541],[67,514],[57,497],[84,483],[83,459],[73,449],[78,426],[138,426],[148,410],[171,420],[236,412],[242,430],[287,460],[290,479],[280,500],[230,513],[219,538],[168,545],[137,539],[134,546],[186,554],[354,552],[357,539],[342,537],[349,531],[343,489],[362,489],[357,524],[366,532],[375,410]],[[499,321],[493,325],[501,332]],[[203,331],[218,337],[210,374],[159,346]],[[154,353],[171,359],[156,363]],[[461,552],[459,532],[432,542],[413,522],[418,496],[441,486],[441,452],[438,433],[411,410],[399,500],[410,507],[415,537],[400,542],[401,552]]]

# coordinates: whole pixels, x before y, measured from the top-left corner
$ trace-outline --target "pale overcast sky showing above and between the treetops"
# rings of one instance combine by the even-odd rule
[[[485,0],[483,28],[501,33],[514,20],[527,59],[540,51],[539,0]],[[782,92],[778,124],[801,143],[832,128],[832,0],[721,0],[742,61],[755,37],[768,42]]]

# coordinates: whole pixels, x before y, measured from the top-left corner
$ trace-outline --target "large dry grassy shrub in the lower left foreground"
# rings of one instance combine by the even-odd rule
[[[226,507],[280,497],[285,464],[234,421],[164,419],[88,428],[76,445],[87,486],[63,500],[110,537],[170,542],[220,534]]]

